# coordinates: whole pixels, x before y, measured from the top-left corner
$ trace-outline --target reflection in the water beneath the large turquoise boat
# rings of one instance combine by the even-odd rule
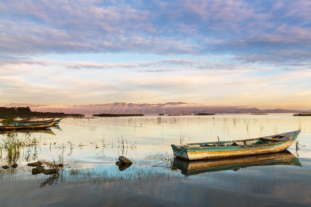
[[[196,160],[188,161],[174,158],[172,170],[180,170],[186,176],[196,175],[205,172],[223,171],[223,170],[238,170],[251,166],[266,166],[266,165],[295,165],[302,166],[299,159],[285,150],[276,154],[266,154],[258,156],[248,156],[239,158],[228,158],[218,160]]]

